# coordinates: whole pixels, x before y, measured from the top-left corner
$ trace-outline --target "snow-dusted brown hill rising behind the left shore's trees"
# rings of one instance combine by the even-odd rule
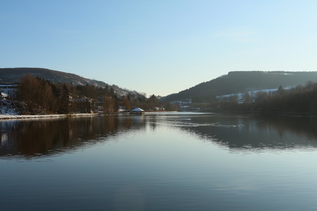
[[[125,95],[127,92],[129,92],[129,90],[122,89],[117,85],[109,85],[102,81],[83,78],[73,73],[33,67],[0,68],[0,83],[17,83],[23,76],[27,74],[31,74],[33,77],[49,80],[53,83],[67,83],[73,84],[75,86],[89,84],[96,87],[105,88],[108,85],[113,88],[118,96]]]

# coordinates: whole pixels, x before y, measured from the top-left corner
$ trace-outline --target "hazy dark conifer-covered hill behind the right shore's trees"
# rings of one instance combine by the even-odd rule
[[[211,102],[215,96],[246,90],[274,89],[317,82],[317,71],[231,71],[227,75],[197,84],[194,87],[162,98],[163,101],[193,99],[193,102]]]

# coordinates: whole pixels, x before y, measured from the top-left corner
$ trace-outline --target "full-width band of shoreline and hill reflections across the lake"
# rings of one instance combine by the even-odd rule
[[[93,116],[0,123],[0,158],[69,153],[122,134],[173,130],[225,146],[233,152],[315,150],[317,118],[200,115]],[[130,132],[130,133],[128,133]],[[149,135],[149,134],[147,134]]]

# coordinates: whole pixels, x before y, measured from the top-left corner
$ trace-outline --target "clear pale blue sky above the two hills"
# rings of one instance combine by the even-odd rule
[[[165,96],[237,70],[317,70],[317,1],[0,1],[0,67]]]

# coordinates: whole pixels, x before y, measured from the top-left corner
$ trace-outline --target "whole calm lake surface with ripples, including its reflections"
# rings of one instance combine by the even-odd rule
[[[3,120],[0,210],[317,210],[317,118]]]

